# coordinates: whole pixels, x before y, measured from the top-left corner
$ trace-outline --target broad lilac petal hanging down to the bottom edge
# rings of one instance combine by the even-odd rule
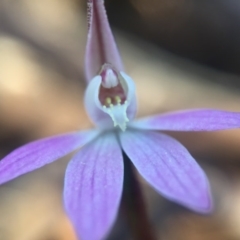
[[[81,240],[103,239],[111,229],[123,185],[121,148],[113,132],[88,144],[69,163],[65,208]]]

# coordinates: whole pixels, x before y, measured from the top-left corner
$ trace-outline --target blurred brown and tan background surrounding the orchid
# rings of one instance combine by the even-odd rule
[[[185,108],[240,111],[240,2],[106,0],[137,85],[139,116]],[[83,106],[85,0],[0,0],[0,157],[29,141],[92,126]],[[240,131],[173,133],[209,176],[202,216],[140,177],[157,239],[240,239]],[[69,157],[0,187],[0,240],[76,240],[62,207]],[[121,216],[121,214],[120,214]],[[132,239],[117,221],[109,239]]]

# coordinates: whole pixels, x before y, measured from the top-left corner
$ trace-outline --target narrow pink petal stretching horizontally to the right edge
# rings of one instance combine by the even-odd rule
[[[240,113],[197,109],[150,116],[137,120],[132,127],[170,131],[217,131],[240,127]]]

